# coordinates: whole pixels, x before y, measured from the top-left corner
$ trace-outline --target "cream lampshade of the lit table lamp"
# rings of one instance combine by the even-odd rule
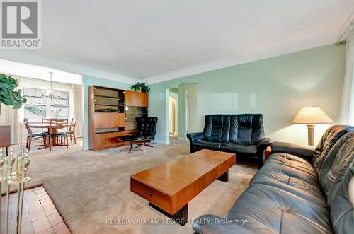
[[[292,120],[293,124],[326,124],[333,120],[320,107],[302,107]]]

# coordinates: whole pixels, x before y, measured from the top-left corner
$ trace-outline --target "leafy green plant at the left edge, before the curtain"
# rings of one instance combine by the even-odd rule
[[[0,74],[0,107],[1,103],[12,105],[13,109],[19,109],[27,100],[21,96],[22,90],[18,87],[16,79],[5,74]]]

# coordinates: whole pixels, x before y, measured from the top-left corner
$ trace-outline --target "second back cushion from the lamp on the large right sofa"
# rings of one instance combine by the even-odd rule
[[[353,162],[353,153],[354,131],[350,131],[334,144],[319,171],[319,183],[327,196],[339,173]]]

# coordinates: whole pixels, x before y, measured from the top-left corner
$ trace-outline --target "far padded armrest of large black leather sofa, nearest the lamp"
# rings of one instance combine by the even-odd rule
[[[302,158],[312,158],[314,155],[314,146],[299,145],[289,142],[272,142],[272,153],[290,153]]]

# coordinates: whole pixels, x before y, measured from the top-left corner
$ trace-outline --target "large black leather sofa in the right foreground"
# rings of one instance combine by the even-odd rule
[[[353,233],[354,128],[331,127],[316,148],[272,151],[227,215],[197,218],[195,233]]]

